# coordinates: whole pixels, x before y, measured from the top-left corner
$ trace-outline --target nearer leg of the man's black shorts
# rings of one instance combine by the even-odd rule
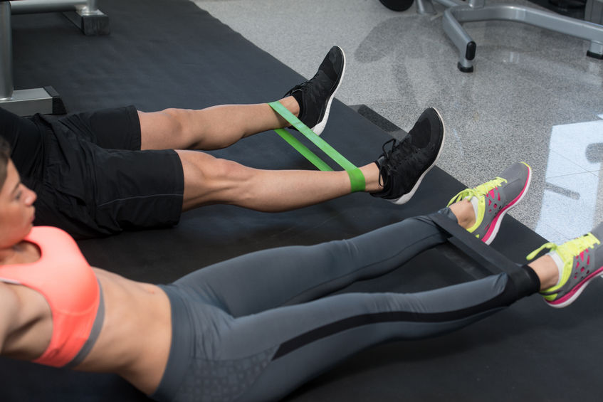
[[[184,174],[176,152],[125,151],[89,145],[85,169],[47,169],[36,224],[75,238],[173,226],[182,213]]]

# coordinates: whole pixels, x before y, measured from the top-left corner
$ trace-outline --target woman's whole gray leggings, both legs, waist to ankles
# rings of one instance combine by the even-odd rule
[[[502,273],[413,294],[323,297],[445,240],[419,216],[350,240],[243,255],[162,286],[172,349],[151,397],[273,401],[362,349],[450,332],[538,290],[535,274],[518,270],[529,280]]]

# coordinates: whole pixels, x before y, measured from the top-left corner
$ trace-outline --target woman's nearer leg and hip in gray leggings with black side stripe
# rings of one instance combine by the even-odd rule
[[[416,294],[347,293],[238,318],[199,300],[195,290],[173,289],[184,297],[170,300],[186,305],[175,311],[190,319],[174,322],[177,342],[152,397],[276,401],[367,347],[487,317],[537,291],[538,277],[525,269]]]

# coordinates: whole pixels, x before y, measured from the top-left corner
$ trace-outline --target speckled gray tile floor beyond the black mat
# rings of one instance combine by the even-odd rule
[[[341,46],[337,98],[347,105],[403,129],[425,107],[439,109],[449,132],[439,166],[468,186],[528,162],[530,193],[510,215],[548,240],[603,221],[603,60],[586,57],[587,41],[522,23],[466,23],[478,47],[475,71],[461,73],[443,6],[422,16],[377,0],[195,3],[306,77]]]

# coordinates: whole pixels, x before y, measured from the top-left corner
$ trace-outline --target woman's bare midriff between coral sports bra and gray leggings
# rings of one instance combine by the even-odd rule
[[[94,268],[105,319],[90,354],[75,369],[114,372],[147,395],[159,386],[172,342],[169,299],[156,285]]]

